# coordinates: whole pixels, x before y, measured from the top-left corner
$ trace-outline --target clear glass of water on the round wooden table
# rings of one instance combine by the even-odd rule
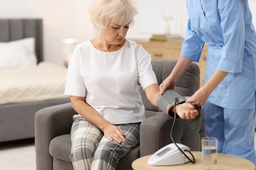
[[[203,169],[217,169],[218,139],[216,137],[202,138]]]

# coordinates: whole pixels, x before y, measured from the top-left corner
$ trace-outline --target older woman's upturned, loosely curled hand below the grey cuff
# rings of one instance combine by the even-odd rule
[[[182,119],[194,119],[198,116],[198,110],[195,110],[195,107],[190,103],[182,103],[175,107],[176,113]]]

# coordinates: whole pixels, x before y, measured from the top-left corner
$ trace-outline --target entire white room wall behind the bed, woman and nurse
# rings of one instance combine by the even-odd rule
[[[95,0],[0,0],[0,18],[43,18],[44,56],[46,61],[63,65],[62,39],[79,42],[97,33],[89,20],[89,7]],[[139,14],[127,35],[131,39],[148,39],[153,33],[166,33],[163,12],[171,18],[169,33],[184,36],[187,22],[185,0],[135,0]],[[249,0],[256,25],[256,0]]]

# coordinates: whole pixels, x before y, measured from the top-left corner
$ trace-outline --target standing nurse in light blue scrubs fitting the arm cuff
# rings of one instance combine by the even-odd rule
[[[192,61],[200,61],[209,44],[205,84],[186,102],[204,105],[207,136],[219,139],[219,152],[256,165],[256,33],[247,0],[186,1],[188,25],[181,57],[160,85],[174,88]]]

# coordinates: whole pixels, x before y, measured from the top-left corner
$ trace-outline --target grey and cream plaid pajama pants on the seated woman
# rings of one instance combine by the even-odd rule
[[[125,133],[125,144],[109,141],[98,127],[74,115],[71,130],[71,155],[75,170],[115,169],[118,161],[139,146],[140,124],[118,125]]]

